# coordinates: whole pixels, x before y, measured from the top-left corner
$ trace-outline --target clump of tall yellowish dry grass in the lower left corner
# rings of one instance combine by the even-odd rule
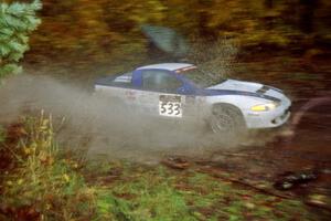
[[[54,141],[52,117],[25,118],[18,143],[1,145],[11,152],[12,167],[1,179],[1,210],[13,220],[88,220],[95,191],[76,171],[77,162],[63,158]],[[4,140],[6,143],[6,140]]]

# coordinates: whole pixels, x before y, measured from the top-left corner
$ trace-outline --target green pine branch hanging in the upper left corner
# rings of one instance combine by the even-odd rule
[[[0,3],[0,80],[21,72],[18,63],[29,50],[29,34],[41,23],[35,17],[41,8],[40,0]]]

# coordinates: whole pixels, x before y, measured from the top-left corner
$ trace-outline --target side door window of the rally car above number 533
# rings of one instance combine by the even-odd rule
[[[182,83],[169,72],[159,70],[142,71],[142,88],[147,91],[177,93]]]

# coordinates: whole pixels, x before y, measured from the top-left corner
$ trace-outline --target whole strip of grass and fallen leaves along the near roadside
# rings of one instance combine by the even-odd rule
[[[318,220],[298,200],[263,194],[209,173],[125,160],[75,160],[52,118],[0,133],[0,220]]]

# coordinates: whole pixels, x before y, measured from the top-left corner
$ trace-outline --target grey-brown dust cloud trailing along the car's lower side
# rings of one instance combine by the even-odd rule
[[[215,141],[196,124],[160,122],[77,86],[47,76],[23,74],[0,87],[0,122],[23,115],[52,114],[61,146],[87,149],[89,156],[157,159],[164,155],[202,156],[237,144]]]

